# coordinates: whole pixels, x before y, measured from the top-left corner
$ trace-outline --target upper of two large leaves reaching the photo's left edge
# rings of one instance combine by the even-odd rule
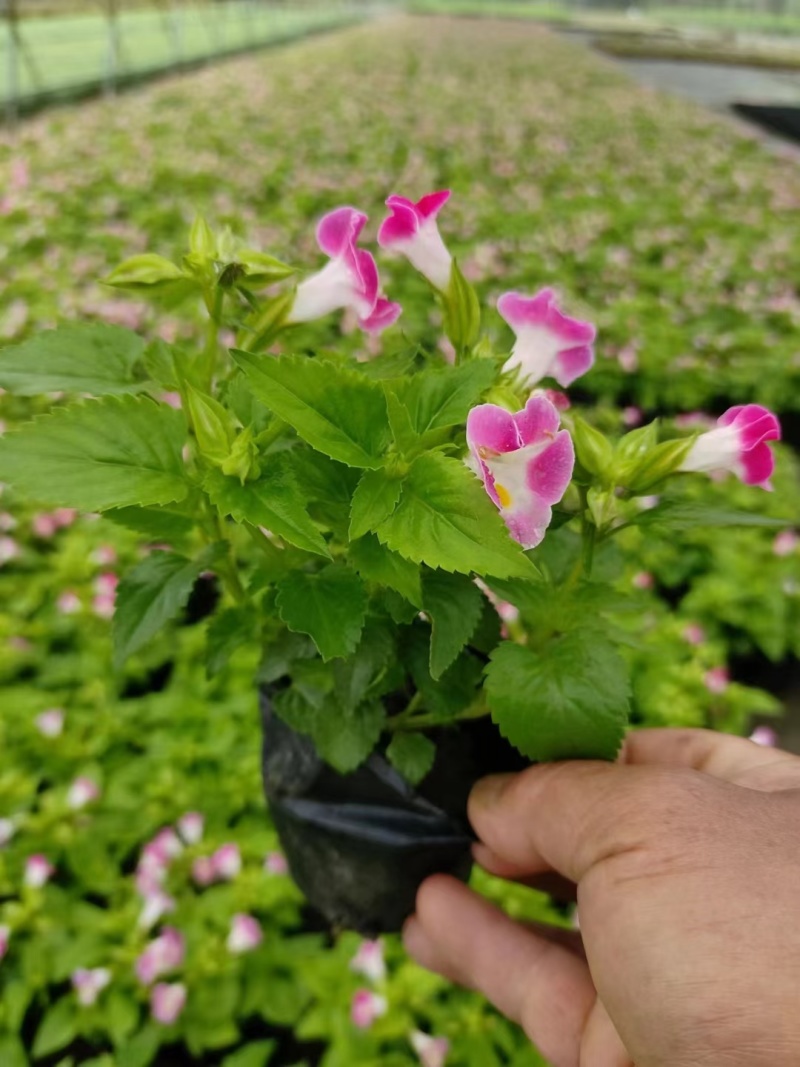
[[[122,327],[86,322],[46,330],[0,350],[0,386],[23,397],[131,393],[142,388],[133,366],[143,352],[139,334]]]

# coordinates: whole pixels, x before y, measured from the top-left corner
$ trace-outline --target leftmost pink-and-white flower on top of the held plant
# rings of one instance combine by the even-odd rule
[[[310,322],[339,308],[351,307],[358,324],[384,330],[400,315],[400,305],[381,297],[375,261],[356,248],[367,216],[353,207],[330,211],[317,227],[317,243],[330,262],[298,286],[287,323]]]

